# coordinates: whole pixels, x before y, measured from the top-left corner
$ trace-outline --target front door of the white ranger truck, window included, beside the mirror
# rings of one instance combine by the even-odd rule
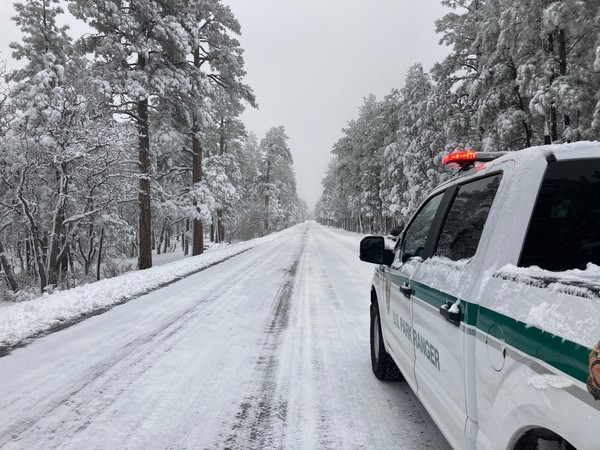
[[[410,278],[425,255],[427,241],[444,193],[427,200],[402,234],[395,250],[395,259],[387,274],[386,311],[389,339],[388,351],[402,375],[416,392],[414,374],[415,343],[412,326],[412,289]]]

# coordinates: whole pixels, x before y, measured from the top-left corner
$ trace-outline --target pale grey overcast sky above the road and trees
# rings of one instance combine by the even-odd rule
[[[0,59],[18,40],[10,0],[2,1]],[[298,193],[312,209],[342,128],[363,97],[382,99],[416,62],[429,70],[448,53],[434,21],[440,0],[224,0],[240,21],[246,83],[258,101],[243,120],[259,141],[283,125]],[[9,61],[9,67],[11,63]]]

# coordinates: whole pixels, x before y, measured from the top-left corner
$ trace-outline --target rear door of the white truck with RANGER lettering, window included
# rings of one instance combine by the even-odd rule
[[[466,339],[466,300],[500,178],[493,174],[451,188],[445,219],[432,232],[430,257],[410,279],[417,395],[455,448],[470,447],[465,352],[472,343]]]

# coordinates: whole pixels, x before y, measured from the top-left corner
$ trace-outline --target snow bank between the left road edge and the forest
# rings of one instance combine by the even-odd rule
[[[0,308],[0,350],[76,322],[82,316],[102,312],[119,303],[150,292],[199,270],[224,261],[257,245],[275,239],[274,233],[250,241],[207,250],[199,256],[133,271],[84,286]]]

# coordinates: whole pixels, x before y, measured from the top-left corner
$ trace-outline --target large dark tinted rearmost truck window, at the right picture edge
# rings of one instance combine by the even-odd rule
[[[558,272],[600,265],[600,159],[548,165],[519,266]]]

